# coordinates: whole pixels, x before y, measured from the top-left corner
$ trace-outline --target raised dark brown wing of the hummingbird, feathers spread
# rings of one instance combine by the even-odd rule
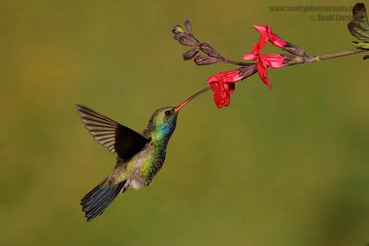
[[[84,105],[76,106],[78,114],[93,138],[110,153],[123,160],[129,160],[150,141],[138,132],[120,125],[99,112]]]

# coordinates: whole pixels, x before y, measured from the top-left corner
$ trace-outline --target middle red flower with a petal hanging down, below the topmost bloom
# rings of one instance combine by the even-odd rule
[[[264,84],[268,85],[271,89],[273,86],[268,80],[268,67],[280,68],[286,66],[283,64],[284,56],[278,54],[267,54],[261,55],[256,53],[259,49],[258,44],[254,44],[254,48],[251,53],[245,54],[242,58],[245,60],[256,60],[257,61],[257,71]]]

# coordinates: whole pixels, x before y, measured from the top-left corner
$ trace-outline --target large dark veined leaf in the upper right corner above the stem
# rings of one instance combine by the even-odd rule
[[[369,22],[366,16],[366,9],[363,3],[357,3],[353,7],[354,19],[348,23],[348,31],[354,37],[365,40],[369,39]]]

